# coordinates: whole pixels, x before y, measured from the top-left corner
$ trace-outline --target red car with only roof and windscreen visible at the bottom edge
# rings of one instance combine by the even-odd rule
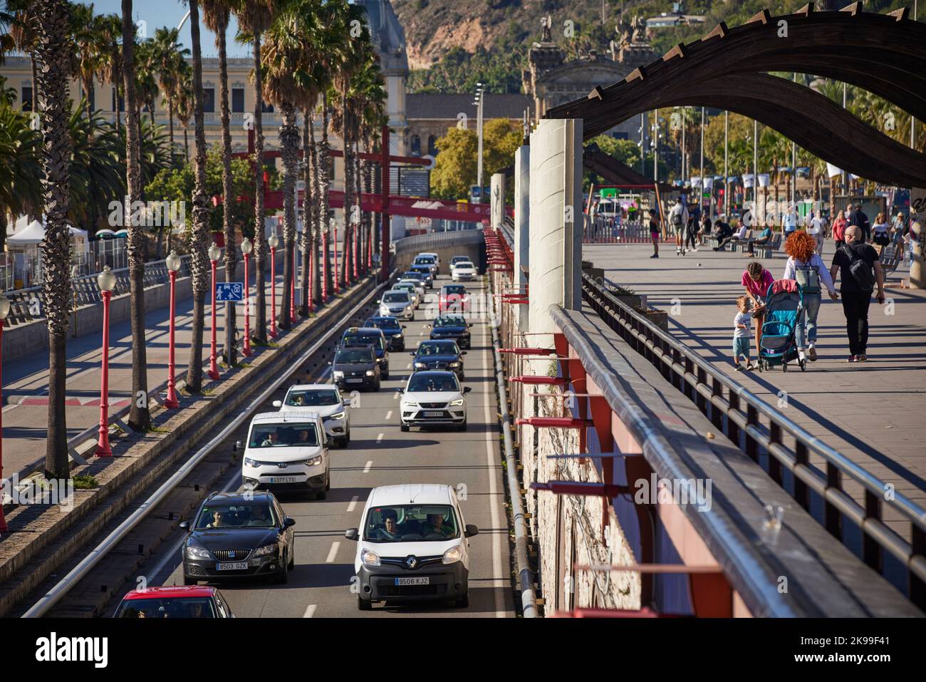
[[[234,618],[215,587],[148,587],[122,598],[114,618]]]

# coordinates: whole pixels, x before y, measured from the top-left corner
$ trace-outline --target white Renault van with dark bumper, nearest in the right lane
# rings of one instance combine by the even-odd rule
[[[469,606],[469,538],[479,528],[464,522],[452,486],[375,487],[360,523],[344,533],[357,542],[357,609],[376,601]]]

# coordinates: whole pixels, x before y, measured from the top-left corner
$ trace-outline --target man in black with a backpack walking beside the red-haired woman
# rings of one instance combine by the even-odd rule
[[[871,294],[878,288],[878,304],[884,302],[884,271],[878,252],[862,241],[862,231],[857,225],[845,228],[845,244],[836,249],[832,257],[830,274],[841,281],[839,293],[843,297],[845,331],[849,336],[848,362],[868,360],[868,311]]]

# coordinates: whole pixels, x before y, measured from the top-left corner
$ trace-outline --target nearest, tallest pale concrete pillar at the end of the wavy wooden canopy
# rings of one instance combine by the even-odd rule
[[[530,159],[529,321],[544,334],[556,331],[551,305],[582,307],[582,120],[541,120]]]

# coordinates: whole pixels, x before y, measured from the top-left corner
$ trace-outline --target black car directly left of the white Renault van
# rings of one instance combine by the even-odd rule
[[[289,580],[295,565],[295,521],[273,493],[211,493],[194,521],[183,521],[183,584],[272,576]]]

